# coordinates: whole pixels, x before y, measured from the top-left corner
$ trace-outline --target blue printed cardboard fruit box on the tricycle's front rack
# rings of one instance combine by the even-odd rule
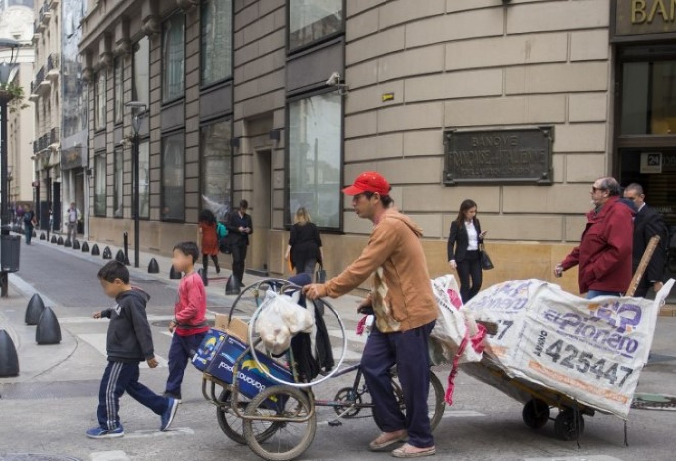
[[[218,347],[216,355],[209,364],[206,372],[212,377],[223,381],[224,383],[233,383],[233,364],[239,356],[241,356],[247,345],[239,339],[226,336],[225,340]],[[262,352],[257,354],[260,366],[272,374],[276,379],[281,379],[285,383],[293,383],[293,374],[281,364],[275,362]],[[255,397],[267,387],[279,386],[281,383],[270,379],[265,372],[260,370],[259,364],[256,363],[251,352],[247,353],[244,360],[239,362],[239,369],[237,370],[237,385],[239,391],[247,397]]]

